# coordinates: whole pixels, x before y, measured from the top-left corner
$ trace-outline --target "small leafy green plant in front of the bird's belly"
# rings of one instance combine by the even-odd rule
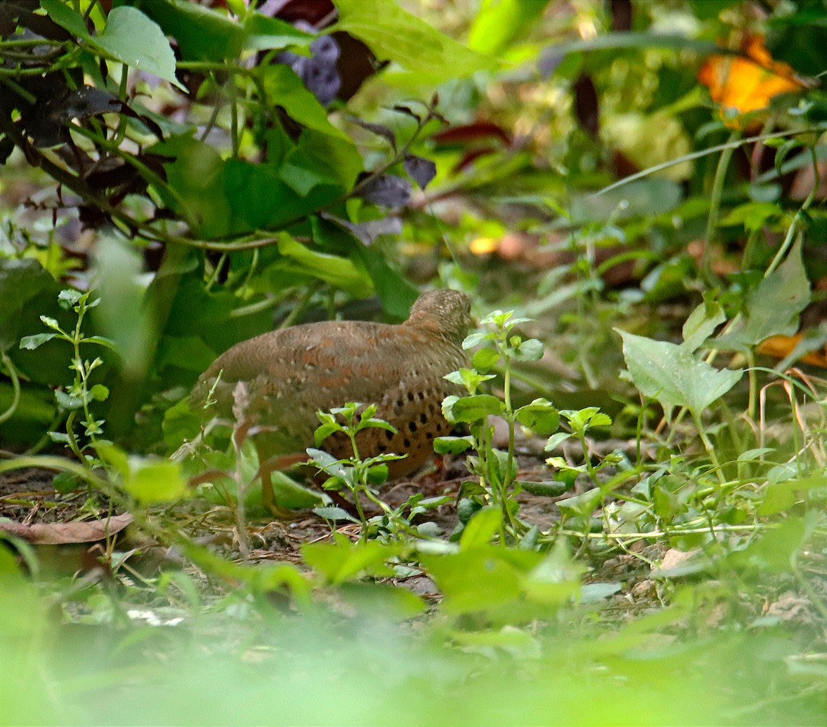
[[[316,414],[321,422],[314,435],[316,446],[320,446],[324,439],[331,435],[344,436],[351,444],[353,452],[351,457],[337,459],[328,452],[312,447],[307,451],[311,457],[310,463],[328,476],[323,485],[324,489],[347,490],[359,519],[355,519],[342,507],[321,507],[314,509],[313,512],[330,520],[345,519],[354,523],[358,522],[361,524],[360,539],[362,541],[370,538],[399,539],[404,536],[414,538],[427,536],[428,527],[423,525],[417,528],[411,524],[411,519],[428,509],[446,504],[451,498],[447,496],[424,498],[423,495],[417,493],[403,505],[392,508],[376,494],[374,487],[388,479],[386,462],[403,459],[405,455],[380,454],[366,459],[360,457],[356,435],[363,429],[382,428],[389,432],[396,432],[392,424],[374,416],[375,404],[362,409],[363,406],[356,402],[348,402],[340,408],[331,409],[329,412],[320,411]],[[362,409],[361,413],[359,409]],[[368,518],[360,495],[364,495],[367,500],[379,507],[381,513]]]

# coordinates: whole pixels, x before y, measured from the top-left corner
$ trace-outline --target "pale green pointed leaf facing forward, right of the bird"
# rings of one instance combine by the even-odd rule
[[[644,396],[662,404],[685,406],[700,415],[743,375],[741,369],[717,371],[674,343],[618,332],[623,337],[624,359],[634,385]]]

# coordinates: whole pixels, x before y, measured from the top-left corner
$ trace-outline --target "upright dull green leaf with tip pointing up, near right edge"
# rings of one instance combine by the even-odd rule
[[[801,237],[786,260],[747,295],[740,318],[715,339],[719,348],[743,349],[770,336],[791,336],[798,328],[798,315],[810,303],[810,281],[801,261]]]

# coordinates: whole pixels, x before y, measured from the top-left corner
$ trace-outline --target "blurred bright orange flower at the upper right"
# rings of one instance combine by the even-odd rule
[[[806,88],[792,67],[779,60],[772,60],[762,36],[749,35],[743,43],[740,55],[710,55],[698,72],[698,80],[710,89],[715,103],[739,113],[767,108],[770,99],[779,93],[791,93]],[[734,122],[724,116],[724,120]]]

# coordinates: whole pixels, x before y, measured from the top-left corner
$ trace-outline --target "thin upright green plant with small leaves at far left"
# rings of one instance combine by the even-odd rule
[[[93,359],[84,358],[84,351],[89,345],[98,345],[113,348],[112,342],[102,336],[86,336],[82,330],[84,317],[90,308],[100,304],[100,299],[90,299],[91,291],[81,293],[79,290],[65,289],[58,294],[60,307],[65,310],[71,308],[77,314],[74,328],[65,330],[55,318],[41,316],[41,321],[50,333],[36,333],[21,339],[20,347],[33,350],[42,346],[52,338],[58,338],[69,343],[73,348],[72,361],[69,369],[74,371],[74,380],[68,387],[61,386],[55,390],[55,399],[60,410],[66,413],[65,432],[50,432],[53,442],[63,442],[80,462],[88,466],[97,466],[98,458],[89,450],[94,450],[103,440],[103,419],[98,419],[91,404],[95,401],[105,401],[109,390],[103,384],[93,384],[92,372],[103,364],[100,356]]]

